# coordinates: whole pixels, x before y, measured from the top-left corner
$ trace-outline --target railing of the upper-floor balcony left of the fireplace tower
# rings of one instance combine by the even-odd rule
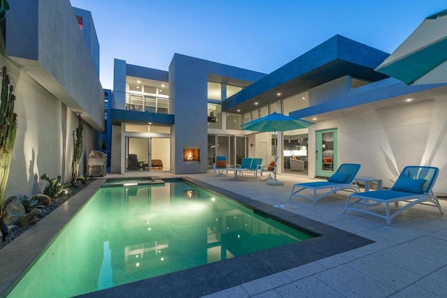
[[[159,114],[174,114],[172,98],[113,91],[113,108]]]

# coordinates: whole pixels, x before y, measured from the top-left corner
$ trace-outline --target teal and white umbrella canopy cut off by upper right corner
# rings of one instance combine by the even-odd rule
[[[447,82],[447,9],[430,15],[376,69],[411,84]]]

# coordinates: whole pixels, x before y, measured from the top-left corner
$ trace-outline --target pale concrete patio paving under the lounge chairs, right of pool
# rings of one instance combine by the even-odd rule
[[[447,216],[435,207],[416,205],[388,226],[374,216],[343,214],[346,193],[316,206],[289,200],[294,183],[310,181],[305,177],[279,175],[285,185],[269,186],[252,177],[189,176],[375,241],[207,297],[447,297]],[[447,201],[440,202],[447,210]]]

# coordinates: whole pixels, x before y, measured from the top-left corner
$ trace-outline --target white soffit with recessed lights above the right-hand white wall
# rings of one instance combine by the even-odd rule
[[[396,96],[385,100],[378,100],[375,101],[374,103],[365,103],[362,105],[335,110],[332,112],[314,114],[310,117],[302,117],[301,119],[312,122],[325,121],[330,119],[336,119],[339,117],[346,117],[351,114],[375,112],[390,107],[397,107],[400,105],[412,105],[415,103],[422,103],[430,100],[447,100],[447,86],[428,89],[413,94],[405,94],[403,96]]]

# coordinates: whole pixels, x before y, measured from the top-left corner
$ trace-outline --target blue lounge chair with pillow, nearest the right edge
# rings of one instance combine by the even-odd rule
[[[360,211],[386,219],[387,225],[391,225],[391,219],[416,204],[437,207],[442,214],[443,212],[438,198],[432,193],[438,172],[439,169],[437,167],[418,165],[404,167],[404,170],[402,170],[402,173],[400,173],[392,188],[383,191],[367,191],[365,193],[353,193],[349,195],[343,213],[346,210]],[[374,207],[374,211],[372,211],[370,208],[371,201],[376,202],[376,204],[384,203],[385,215],[383,215],[383,212],[382,214],[374,212],[377,211],[377,207]],[[408,204],[398,208],[397,206],[400,201],[408,202]],[[395,203],[397,208],[393,211],[393,214],[390,213],[390,203]],[[363,205],[363,208],[360,208],[360,204]],[[356,207],[353,207],[353,205],[356,205]]]

